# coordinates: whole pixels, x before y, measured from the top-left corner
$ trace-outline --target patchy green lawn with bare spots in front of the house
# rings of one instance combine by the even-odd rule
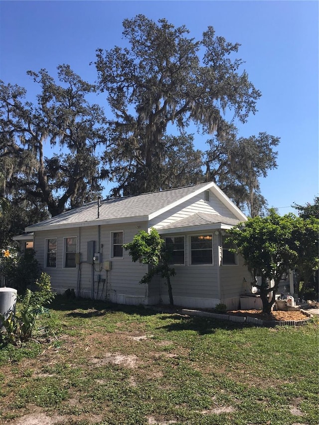
[[[319,423],[315,320],[254,327],[59,297],[39,325],[0,350],[0,424]]]

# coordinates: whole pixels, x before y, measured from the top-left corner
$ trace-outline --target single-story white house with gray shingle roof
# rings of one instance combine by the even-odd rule
[[[58,293],[74,289],[82,297],[120,304],[168,303],[165,282],[159,277],[140,284],[148,266],[133,263],[123,249],[140,230],[154,227],[173,249],[176,305],[237,308],[251,277],[224,234],[246,220],[209,182],[93,201],[25,230],[33,233],[36,258]]]

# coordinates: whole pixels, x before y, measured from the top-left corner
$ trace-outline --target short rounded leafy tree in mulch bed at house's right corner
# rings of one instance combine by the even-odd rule
[[[295,241],[298,225],[294,214],[280,216],[270,210],[267,217],[248,218],[247,222],[228,231],[229,240],[235,244],[252,274],[265,313],[271,312],[283,274],[294,269],[298,262],[298,243]],[[261,283],[258,283],[257,276],[261,277]]]

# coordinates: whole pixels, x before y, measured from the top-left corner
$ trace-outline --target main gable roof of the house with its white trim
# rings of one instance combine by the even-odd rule
[[[246,220],[244,214],[216,184],[209,182],[142,195],[106,199],[100,205],[99,218],[98,201],[92,201],[48,220],[28,226],[25,230],[30,232],[35,230],[148,221],[208,189],[212,190],[239,220]]]

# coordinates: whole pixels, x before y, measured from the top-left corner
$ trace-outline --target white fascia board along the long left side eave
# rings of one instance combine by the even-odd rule
[[[95,219],[89,221],[80,221],[75,223],[47,224],[45,226],[28,226],[26,232],[40,232],[42,230],[59,230],[59,229],[74,229],[75,227],[103,226],[111,224],[126,224],[136,223],[139,221],[148,221],[147,215],[139,215],[134,217],[110,218],[110,219]]]

